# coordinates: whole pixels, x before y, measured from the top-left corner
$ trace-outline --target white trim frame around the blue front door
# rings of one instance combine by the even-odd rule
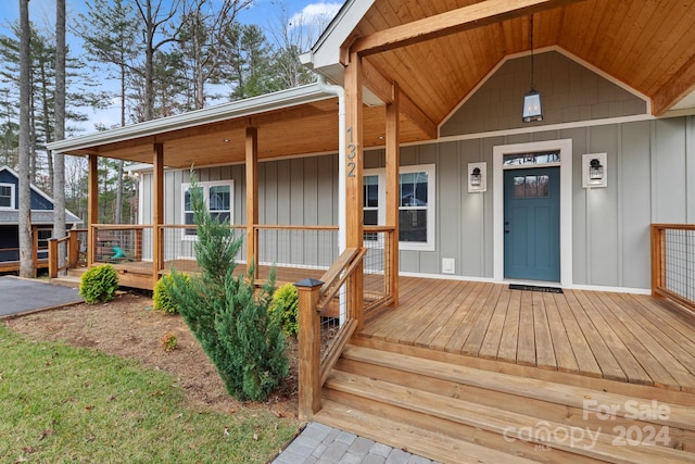
[[[560,285],[572,285],[572,140],[547,140],[494,146],[493,152],[493,279],[504,281],[505,154],[559,150],[560,152]],[[541,166],[539,166],[541,167]]]

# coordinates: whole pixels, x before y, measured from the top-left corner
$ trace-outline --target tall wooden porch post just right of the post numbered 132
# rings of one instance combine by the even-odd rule
[[[399,118],[401,102],[401,88],[397,83],[393,83],[393,101],[387,104],[387,226],[393,227],[393,235],[387,242],[389,247],[388,281],[384,285],[390,287],[390,294],[393,298],[393,305],[399,304],[399,224],[401,195],[400,195],[400,171],[401,171],[401,142],[399,130],[401,122]],[[387,293],[389,294],[389,293]]]

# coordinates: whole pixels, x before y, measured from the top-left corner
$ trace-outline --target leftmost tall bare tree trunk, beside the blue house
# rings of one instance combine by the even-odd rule
[[[30,185],[30,40],[29,0],[20,0],[20,276],[34,276]]]

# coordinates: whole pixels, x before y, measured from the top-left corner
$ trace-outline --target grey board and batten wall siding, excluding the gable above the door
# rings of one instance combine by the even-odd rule
[[[401,164],[435,165],[434,251],[401,251],[401,272],[493,276],[492,155],[501,145],[572,140],[573,284],[647,289],[649,225],[695,222],[695,117],[639,121],[403,147]],[[582,154],[607,153],[608,187],[582,188]],[[488,163],[488,191],[469,193],[467,165]],[[260,163],[261,224],[338,224],[337,155]],[[365,168],[384,166],[383,150],[365,153]],[[198,170],[201,180],[235,180],[235,223],[245,222],[244,166]],[[165,223],[181,223],[188,171],[165,173]],[[143,176],[142,222],[151,217],[151,177]]]

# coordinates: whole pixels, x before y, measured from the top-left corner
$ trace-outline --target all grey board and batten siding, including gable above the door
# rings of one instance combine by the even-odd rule
[[[541,53],[538,60],[543,123],[520,123],[528,91],[528,58],[520,58],[503,63],[451,115],[440,140],[402,147],[403,166],[435,166],[435,241],[433,251],[402,250],[401,272],[442,275],[442,259],[452,259],[454,277],[493,279],[494,148],[571,140],[571,204],[561,205],[571,208],[571,285],[648,289],[650,224],[695,222],[695,116],[652,118],[639,96],[565,54]],[[607,188],[582,187],[584,153],[607,153]],[[383,150],[365,151],[364,167],[383,168],[384,158]],[[468,163],[477,162],[488,163],[484,193],[467,188]],[[233,222],[243,224],[244,166],[198,172],[203,181],[235,180]],[[167,171],[165,177],[165,222],[180,224],[181,184],[189,173]],[[258,188],[261,224],[338,224],[336,154],[262,162]],[[150,190],[146,175],[144,224],[151,217]],[[307,256],[317,252],[306,239],[300,244]]]

